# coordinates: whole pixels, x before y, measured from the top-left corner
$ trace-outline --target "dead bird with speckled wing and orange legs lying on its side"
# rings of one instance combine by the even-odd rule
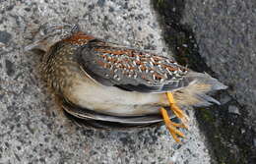
[[[163,122],[180,142],[185,136],[179,129],[189,123],[182,109],[220,104],[207,93],[227,87],[169,57],[107,42],[78,25],[45,24],[37,33],[25,50],[44,52],[43,80],[68,116],[101,128]]]

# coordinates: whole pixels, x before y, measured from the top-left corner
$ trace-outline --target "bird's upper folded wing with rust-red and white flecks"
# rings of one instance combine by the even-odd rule
[[[189,70],[169,58],[93,39],[78,52],[82,69],[96,82],[129,91],[164,92],[188,85]]]

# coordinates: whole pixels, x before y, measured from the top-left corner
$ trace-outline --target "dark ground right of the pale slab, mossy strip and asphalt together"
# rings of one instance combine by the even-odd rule
[[[256,163],[256,1],[159,1],[175,58],[227,84],[222,106],[196,110],[212,163]]]

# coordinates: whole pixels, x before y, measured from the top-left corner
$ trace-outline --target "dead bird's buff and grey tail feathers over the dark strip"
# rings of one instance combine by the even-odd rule
[[[220,105],[218,100],[207,93],[227,88],[222,82],[206,73],[192,72],[186,78],[190,81],[189,85],[173,92],[178,105],[194,107],[209,106],[213,103]]]

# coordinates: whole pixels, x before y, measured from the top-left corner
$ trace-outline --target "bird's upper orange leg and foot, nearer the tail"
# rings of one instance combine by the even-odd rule
[[[170,110],[173,111],[173,113],[181,120],[184,127],[188,129],[187,123],[189,121],[188,116],[176,105],[174,98],[170,92],[166,92],[167,99],[169,101]]]

